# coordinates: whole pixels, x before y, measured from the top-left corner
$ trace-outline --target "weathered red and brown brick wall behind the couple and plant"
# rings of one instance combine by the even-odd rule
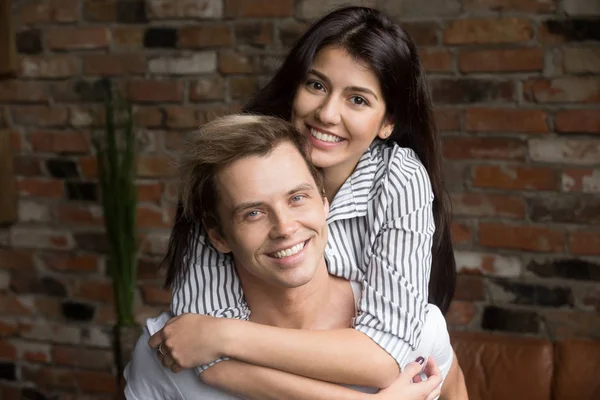
[[[90,134],[111,76],[140,126],[138,317],[167,307],[172,154],[235,111],[332,0],[14,1],[0,82],[19,221],[0,227],[0,398],[115,391]],[[600,337],[600,3],[363,0],[420,46],[443,131],[460,276],[454,329]],[[37,397],[36,397],[37,396]],[[48,397],[49,398],[49,397]]]

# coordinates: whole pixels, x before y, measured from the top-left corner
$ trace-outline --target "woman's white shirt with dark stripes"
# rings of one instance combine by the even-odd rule
[[[425,321],[432,205],[431,182],[415,152],[376,140],[340,188],[327,218],[329,272],[363,286],[353,327],[402,367],[418,346]],[[200,226],[196,230],[193,264],[173,285],[171,311],[248,319],[233,258],[216,251]]]

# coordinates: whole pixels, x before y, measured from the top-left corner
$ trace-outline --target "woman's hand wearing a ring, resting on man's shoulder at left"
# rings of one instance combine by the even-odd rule
[[[182,314],[171,318],[148,340],[165,368],[179,372],[223,356],[223,318]]]

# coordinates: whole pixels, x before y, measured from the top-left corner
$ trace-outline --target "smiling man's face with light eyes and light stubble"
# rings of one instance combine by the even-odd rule
[[[237,160],[216,181],[222,235],[209,234],[217,250],[233,253],[240,276],[281,288],[310,282],[327,243],[329,205],[298,150],[282,143],[266,157]]]

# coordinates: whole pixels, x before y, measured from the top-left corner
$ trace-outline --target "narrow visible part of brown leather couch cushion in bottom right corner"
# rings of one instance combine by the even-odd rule
[[[600,399],[600,341],[557,342],[554,357],[553,400]]]

